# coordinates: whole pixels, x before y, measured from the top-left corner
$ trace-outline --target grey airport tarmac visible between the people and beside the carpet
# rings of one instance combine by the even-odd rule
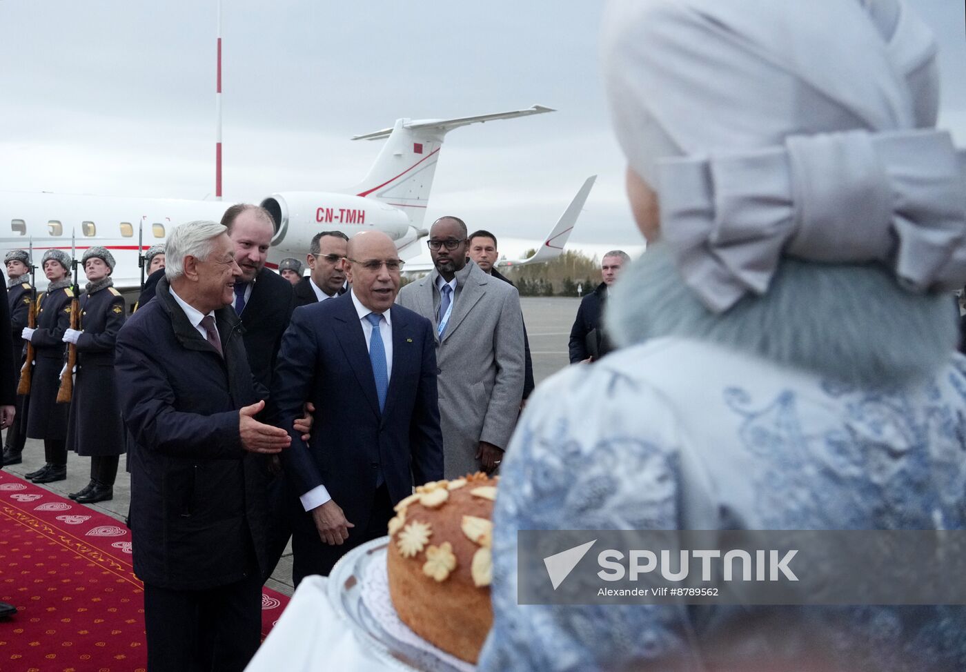
[[[525,297],[521,299],[526,321],[526,332],[530,342],[530,355],[533,359],[533,377],[539,385],[542,380],[552,376],[555,372],[567,366],[567,341],[570,327],[577,315],[580,299],[562,297]],[[122,394],[123,394],[122,390]],[[87,485],[90,479],[90,460],[68,457],[68,476],[66,481],[58,481],[41,486],[67,497],[68,492],[75,492]],[[5,467],[18,477],[43,466],[43,441],[27,439],[23,451],[23,462]],[[130,477],[125,471],[125,461],[121,461],[117,482],[114,484],[114,498],[110,501],[90,504],[99,512],[124,520],[128,515],[130,502]],[[83,506],[83,505],[79,505]],[[286,554],[278,563],[274,574],[266,584],[270,588],[286,595],[292,595],[292,546],[286,549]]]

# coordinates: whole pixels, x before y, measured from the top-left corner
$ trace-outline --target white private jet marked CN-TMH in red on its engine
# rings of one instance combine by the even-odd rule
[[[348,236],[360,231],[383,231],[395,241],[403,259],[412,259],[421,252],[414,243],[428,235],[423,219],[445,134],[459,126],[553,111],[533,105],[523,110],[459,119],[400,119],[392,128],[356,135],[354,140],[386,138],[386,142],[369,174],[355,187],[340,192],[279,192],[261,202],[275,224],[268,265],[277,267],[286,257],[304,258],[311,238],[325,230],[339,230]],[[589,186],[585,184],[584,189],[589,191]],[[102,245],[111,250],[117,261],[113,273],[115,286],[122,291],[133,290],[141,282],[138,261],[142,236],[143,247],[147,248],[163,242],[171,228],[182,222],[220,220],[230,204],[230,201],[0,192],[0,227],[5,228],[4,223],[10,222],[9,232],[0,232],[0,250],[26,249],[32,241],[37,264],[49,248],[70,252],[71,237],[75,238],[78,256],[88,247]],[[565,239],[557,238],[557,242]],[[551,253],[557,246],[552,242],[548,240]],[[559,254],[559,250],[555,251]],[[527,261],[538,261],[536,256]],[[547,259],[545,254],[539,261]],[[39,290],[46,287],[43,273],[37,274],[37,284]]]

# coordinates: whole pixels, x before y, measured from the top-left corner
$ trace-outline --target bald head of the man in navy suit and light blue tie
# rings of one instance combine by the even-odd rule
[[[347,268],[353,294],[374,313],[392,307],[399,294],[399,252],[381,231],[364,231],[349,238]]]

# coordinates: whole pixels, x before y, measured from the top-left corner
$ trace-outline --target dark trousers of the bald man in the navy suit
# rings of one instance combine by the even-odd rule
[[[336,502],[338,504],[338,502]],[[331,546],[319,538],[312,514],[302,510],[298,497],[295,500],[292,525],[292,580],[296,588],[303,578],[310,574],[327,576],[335,563],[355,546],[362,546],[373,539],[384,537],[388,531],[389,518],[395,515],[389,490],[385,486],[376,489],[372,515],[365,522],[350,519],[355,527],[349,529],[349,539],[342,546]]]

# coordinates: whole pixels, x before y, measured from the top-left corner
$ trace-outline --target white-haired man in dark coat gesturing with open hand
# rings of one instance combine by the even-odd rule
[[[231,303],[241,270],[225,227],[190,222],[168,238],[166,278],[117,340],[131,465],[134,571],[144,581],[148,667],[241,670],[258,648],[267,560],[259,454],[287,432],[255,419]]]

